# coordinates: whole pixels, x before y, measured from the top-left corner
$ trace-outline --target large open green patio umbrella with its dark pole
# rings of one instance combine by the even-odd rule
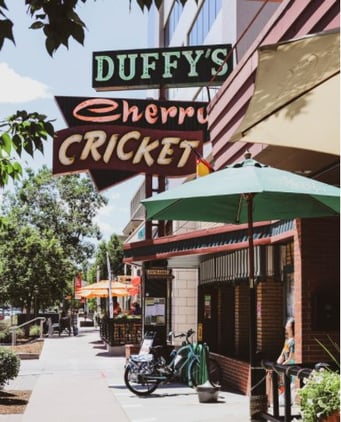
[[[340,189],[263,165],[245,154],[228,166],[142,201],[147,218],[247,223],[250,285],[250,363],[256,353],[253,222],[340,214]],[[253,317],[252,317],[253,316]]]

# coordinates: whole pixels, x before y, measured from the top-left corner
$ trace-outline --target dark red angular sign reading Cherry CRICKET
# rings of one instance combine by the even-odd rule
[[[90,171],[101,190],[137,173],[179,177],[195,172],[193,151],[202,152],[206,103],[56,100],[70,127],[54,140],[53,174]]]

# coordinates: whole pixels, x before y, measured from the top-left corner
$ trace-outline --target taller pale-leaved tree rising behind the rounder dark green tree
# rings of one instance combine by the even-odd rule
[[[81,265],[94,251],[90,240],[101,238],[93,219],[107,203],[89,178],[78,174],[53,177],[44,166],[37,174],[28,169],[27,178],[16,183],[15,193],[5,195],[2,208],[6,216],[19,225],[35,227],[42,236],[51,230],[63,251]]]

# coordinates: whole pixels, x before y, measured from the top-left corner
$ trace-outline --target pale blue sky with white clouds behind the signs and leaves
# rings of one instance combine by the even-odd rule
[[[67,127],[54,96],[146,98],[145,91],[97,93],[92,88],[92,53],[105,50],[147,48],[148,13],[135,0],[79,1],[77,13],[86,24],[84,46],[70,40],[69,49],[60,47],[51,58],[45,49],[41,30],[28,29],[32,24],[24,2],[7,1],[7,16],[13,20],[15,45],[5,41],[0,50],[0,120],[17,110],[40,112],[53,122],[55,130]],[[25,167],[38,170],[52,168],[52,145],[45,143],[45,153],[37,152],[21,160]],[[96,217],[103,239],[122,234],[130,218],[130,201],[143,182],[136,176],[105,191],[108,206]],[[1,192],[0,192],[1,193]]]

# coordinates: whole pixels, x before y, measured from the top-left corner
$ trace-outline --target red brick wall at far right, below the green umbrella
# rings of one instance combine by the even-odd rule
[[[340,314],[340,227],[338,218],[297,221],[295,239],[296,360],[330,360],[315,338],[330,346],[328,336],[339,343],[339,329],[316,329],[323,315],[315,313],[314,300],[329,295]],[[301,252],[302,251],[302,252]],[[300,265],[300,266],[298,266]],[[299,282],[301,278],[302,283]],[[317,321],[313,321],[313,316]],[[298,316],[298,318],[297,318]]]

